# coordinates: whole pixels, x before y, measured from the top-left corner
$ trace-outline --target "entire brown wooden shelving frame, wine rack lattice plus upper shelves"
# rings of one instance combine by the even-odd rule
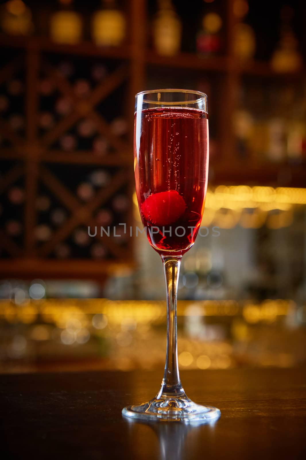
[[[143,91],[147,86],[148,75],[152,69],[162,74],[164,70],[171,69],[173,86],[176,86],[176,73],[190,70],[198,76],[208,76],[216,81],[215,118],[218,140],[218,160],[211,158],[209,184],[250,184],[269,186],[306,186],[306,164],[268,163],[255,162],[254,160],[241,160],[236,151],[236,139],[232,131],[232,114],[238,106],[238,89],[245,78],[273,79],[273,81],[299,81],[306,77],[306,69],[294,73],[277,73],[270,63],[265,61],[250,60],[238,62],[233,50],[233,31],[236,19],[233,15],[234,0],[225,2],[225,21],[227,44],[224,56],[200,57],[197,54],[181,52],[176,56],[165,57],[156,54],[148,48],[147,43],[147,2],[131,0],[129,6],[129,41],[120,47],[98,47],[95,44],[81,42],[78,45],[62,45],[52,42],[46,37],[11,37],[0,35],[0,47],[14,50],[14,58],[0,69],[0,84],[9,81],[14,73],[20,72],[23,65],[25,76],[25,116],[27,119],[23,138],[11,132],[8,123],[0,119],[0,132],[11,144],[9,147],[0,148],[0,159],[6,162],[15,161],[16,165],[4,174],[0,192],[14,183],[22,175],[25,182],[27,203],[23,210],[25,224],[24,247],[16,244],[6,233],[0,232],[0,244],[11,254],[11,259],[0,262],[2,276],[40,276],[44,277],[89,277],[104,279],[112,270],[118,267],[133,264],[132,246],[125,251],[121,250],[110,239],[109,250],[113,252],[113,260],[56,260],[50,257],[52,247],[58,241],[64,241],[78,224],[95,224],[94,211],[96,204],[109,197],[100,196],[100,201],[80,203],[71,191],[66,190],[65,184],[60,183],[52,172],[48,172],[51,165],[63,167],[110,167],[121,170],[119,175],[113,177],[114,190],[119,190],[125,183],[129,195],[134,190],[133,179],[133,107],[135,94]],[[51,54],[71,56],[86,59],[94,57],[99,63],[108,63],[113,60],[111,68],[118,65],[116,70],[111,70],[102,84],[98,84],[88,97],[78,98],[74,94],[68,79],[63,78],[55,69]],[[20,56],[19,56],[20,55]],[[93,59],[91,59],[92,62]],[[114,65],[113,65],[114,64]],[[179,70],[178,70],[179,69]],[[40,92],[38,83],[40,72],[48,75],[59,93],[73,101],[74,110],[44,135],[39,134],[38,113]],[[183,72],[181,72],[183,74]],[[185,74],[184,74],[185,75]],[[122,140],[112,134],[108,121],[102,117],[98,104],[111,94],[120,85],[125,84],[125,116],[129,123],[128,138]],[[79,150],[63,152],[54,145],[54,141],[62,133],[67,132],[73,124],[82,117],[88,116],[95,122],[102,137],[107,138],[112,151],[106,155],[96,156],[91,151]],[[121,174],[121,175],[120,175]],[[50,242],[45,242],[42,247],[37,247],[34,237],[36,225],[35,200],[38,194],[39,182],[43,181],[52,193],[57,195],[59,201],[66,202],[71,218],[63,230],[58,230]],[[117,189],[116,189],[117,187]],[[132,207],[131,207],[132,208]],[[130,210],[127,224],[132,222],[132,209]],[[132,240],[132,238],[130,238]],[[131,243],[131,242],[130,242]],[[53,245],[53,246],[52,246]]]

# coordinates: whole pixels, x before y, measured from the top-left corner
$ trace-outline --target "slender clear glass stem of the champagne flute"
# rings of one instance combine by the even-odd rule
[[[162,260],[167,290],[167,351],[164,378],[158,397],[176,397],[184,393],[178,370],[176,331],[177,283],[181,257],[162,256]]]

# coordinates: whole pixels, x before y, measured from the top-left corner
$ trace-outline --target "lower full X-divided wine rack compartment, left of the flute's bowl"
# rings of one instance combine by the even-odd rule
[[[43,185],[37,200],[41,211],[36,228],[39,255],[58,259],[122,258],[128,248],[127,236],[114,236],[119,234],[114,228],[127,222],[130,210],[124,169],[49,164],[41,168],[40,177]],[[101,227],[108,236],[103,232],[101,236]]]

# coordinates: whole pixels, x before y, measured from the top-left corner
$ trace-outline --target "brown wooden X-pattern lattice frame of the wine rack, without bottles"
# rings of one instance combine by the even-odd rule
[[[0,36],[2,49],[9,51],[16,49],[16,58],[6,54],[6,65],[0,70],[0,83],[6,83],[16,78],[18,72],[22,72],[20,78],[24,80],[24,115],[26,116],[25,131],[17,135],[11,131],[8,120],[2,119],[0,132],[8,146],[0,148],[0,159],[3,161],[16,161],[4,174],[0,193],[6,193],[7,188],[12,186],[16,180],[22,179],[25,186],[24,214],[24,238],[23,242],[16,242],[5,231],[0,232],[0,245],[10,258],[0,261],[0,274],[4,277],[33,278],[40,277],[68,277],[68,278],[90,278],[102,282],[106,277],[117,271],[119,267],[129,267],[133,264],[131,251],[132,239],[129,238],[125,245],[118,244],[118,238],[101,240],[97,235],[93,238],[96,243],[103,244],[108,253],[107,259],[91,260],[74,259],[58,260],[54,258],[53,251],[58,243],[65,242],[73,235],[76,228],[90,226],[99,227],[96,213],[99,208],[105,206],[113,199],[120,190],[125,190],[131,197],[131,172],[133,162],[132,150],[127,139],[122,139],[113,134],[105,113],[100,113],[97,106],[101,104],[108,95],[116,91],[122,84],[128,89],[133,86],[133,75],[130,74],[130,63],[133,62],[130,54],[130,47],[120,48],[99,48],[91,43],[81,43],[78,46],[58,45],[45,38],[31,37],[5,37]],[[119,61],[116,67],[110,68],[108,75],[102,84],[97,82],[94,88],[86,95],[79,97],[71,85],[69,79],[60,74],[51,60],[49,52],[57,55],[78,56],[81,59],[97,57],[99,62],[109,58]],[[128,61],[128,63],[126,63]],[[65,97],[72,104],[73,110],[55,121],[54,126],[45,133],[38,128],[38,114],[40,112],[40,86],[42,75],[47,76],[52,85],[57,88],[58,94]],[[134,90],[133,90],[134,91]],[[124,107],[121,113],[124,113]],[[118,112],[120,113],[120,111]],[[103,116],[104,115],[104,116]],[[97,132],[105,138],[111,150],[104,155],[95,155],[92,151],[70,151],[64,152],[54,148],[57,140],[68,132],[75,123],[84,117],[94,122]],[[132,112],[130,126],[132,123]],[[95,190],[91,200],[82,202],[76,193],[69,189],[64,176],[57,177],[57,165],[61,164],[67,173],[74,174],[74,167],[106,167],[108,187]],[[109,168],[109,169],[108,169]],[[77,168],[80,171],[80,168]],[[86,170],[86,171],[87,171]],[[39,195],[39,188],[43,185],[57,202],[67,211],[66,221],[53,230],[48,241],[38,244],[35,240],[35,228],[38,222],[36,210],[36,199]],[[124,222],[131,223],[132,207],[125,213]],[[20,214],[20,212],[19,212]],[[98,238],[99,236],[99,238]]]

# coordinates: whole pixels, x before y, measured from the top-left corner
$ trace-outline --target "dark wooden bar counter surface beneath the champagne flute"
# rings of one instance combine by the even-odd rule
[[[304,459],[306,370],[181,372],[187,395],[221,409],[214,425],[143,424],[121,409],[159,389],[162,370],[0,376],[2,458]]]

